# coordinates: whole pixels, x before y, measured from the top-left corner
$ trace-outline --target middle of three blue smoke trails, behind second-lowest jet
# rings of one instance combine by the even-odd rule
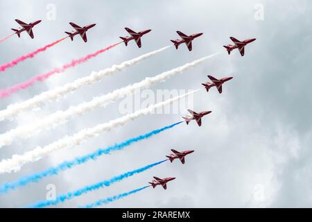
[[[71,200],[72,198],[81,196],[83,194],[87,194],[90,191],[94,191],[96,189],[101,189],[103,187],[110,187],[110,185],[114,184],[115,182],[119,182],[125,178],[128,178],[130,176],[133,176],[137,173],[142,173],[144,171],[147,171],[148,169],[155,167],[159,164],[162,164],[163,162],[166,162],[167,160],[162,160],[160,162],[155,162],[154,164],[149,164],[146,167],[141,167],[139,169],[135,169],[133,171],[128,171],[127,173],[123,173],[119,176],[114,176],[110,180],[103,180],[101,182],[97,182],[94,185],[87,185],[81,189],[77,189],[76,191],[69,191],[67,194],[62,194],[59,196],[56,196],[55,200],[40,200],[37,203],[31,205],[30,207],[48,207],[51,205],[58,205],[59,203],[64,203],[66,200]]]

